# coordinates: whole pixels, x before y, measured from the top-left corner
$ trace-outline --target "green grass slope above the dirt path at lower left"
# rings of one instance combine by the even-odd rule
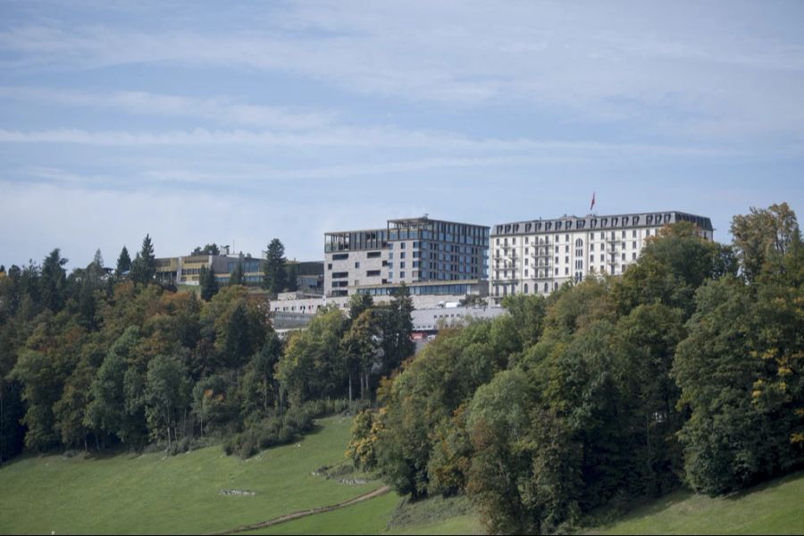
[[[220,446],[180,456],[23,457],[0,467],[0,533],[198,533],[232,529],[368,493],[312,473],[343,459],[351,419],[248,460]],[[248,490],[253,497],[223,496]]]

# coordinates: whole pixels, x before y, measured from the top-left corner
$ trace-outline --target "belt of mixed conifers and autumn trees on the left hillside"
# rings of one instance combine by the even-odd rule
[[[133,260],[123,247],[114,270],[99,251],[69,275],[66,263],[54,249],[42,264],[0,267],[0,462],[200,442],[251,456],[367,404],[413,353],[404,291],[387,306],[356,297],[349,317],[325,309],[282,341],[268,294],[237,281],[202,281],[198,293],[157,284],[150,236]]]

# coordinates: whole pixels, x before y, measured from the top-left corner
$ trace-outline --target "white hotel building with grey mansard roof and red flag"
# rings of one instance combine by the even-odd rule
[[[491,230],[490,295],[547,295],[595,273],[618,275],[639,258],[645,239],[675,222],[692,222],[714,239],[709,218],[681,212],[618,214],[500,223]]]

